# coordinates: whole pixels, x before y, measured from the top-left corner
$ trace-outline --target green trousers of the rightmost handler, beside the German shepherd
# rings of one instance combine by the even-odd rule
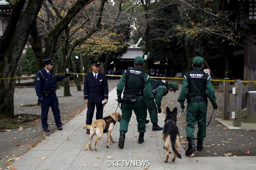
[[[204,141],[206,137],[206,112],[207,112],[207,103],[188,103],[187,106],[187,116],[186,116],[186,133],[187,137]],[[198,133],[197,138],[194,136],[194,125],[198,123]]]

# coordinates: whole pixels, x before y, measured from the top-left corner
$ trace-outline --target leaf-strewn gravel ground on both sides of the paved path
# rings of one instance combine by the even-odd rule
[[[116,87],[118,80],[108,80],[109,91]],[[179,84],[181,89],[181,84]],[[181,112],[180,104],[177,102],[180,89],[173,92],[169,92],[168,95],[164,96],[162,100],[162,111],[165,113],[166,106],[173,109],[178,108],[178,113]],[[59,106],[61,112],[61,118],[63,124],[72,119],[76,114],[80,113],[86,108],[83,100],[83,92],[77,92],[76,87],[70,88],[72,96],[63,96],[63,87],[57,90],[57,96],[59,99]],[[220,105],[222,101],[222,93],[216,90],[217,103]],[[28,107],[26,105],[36,104],[37,96],[35,94],[34,87],[31,88],[16,88],[14,93],[14,111],[15,114],[29,113],[38,114],[41,113],[40,106]],[[186,112],[186,109],[185,109]],[[207,111],[207,123],[212,114],[212,105],[208,103]],[[246,156],[246,152],[250,152],[250,156],[256,156],[256,131],[249,130],[228,130],[214,118],[220,118],[222,111],[215,110],[212,117],[212,121],[207,127],[206,138],[204,141],[204,150],[202,152],[195,152],[195,156],[225,156],[224,154],[232,154],[231,156]],[[29,127],[24,129],[14,130],[9,132],[0,133],[0,170],[13,161],[6,162],[10,158],[19,157],[22,154],[28,152],[31,147],[37,145],[45,137],[56,131],[54,123],[54,117],[52,112],[49,111],[48,123],[50,133],[44,133],[41,127],[41,120],[33,121]],[[159,121],[164,121],[159,120]],[[185,150],[188,148],[186,140],[186,126],[185,115],[182,113],[178,117],[177,126],[180,130],[180,142],[182,143]],[[197,133],[197,127],[195,134]],[[196,143],[196,141],[195,141]],[[1,158],[5,158],[1,161]]]

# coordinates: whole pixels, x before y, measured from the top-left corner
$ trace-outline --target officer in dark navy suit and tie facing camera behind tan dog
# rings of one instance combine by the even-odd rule
[[[84,77],[84,102],[88,106],[86,125],[92,124],[95,106],[96,119],[102,119],[103,106],[108,103],[108,81],[107,76],[99,72],[101,63],[100,60],[92,61],[92,72]],[[86,129],[86,134],[90,134],[90,129]]]

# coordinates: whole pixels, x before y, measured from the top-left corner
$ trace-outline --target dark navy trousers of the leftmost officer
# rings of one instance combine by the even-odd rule
[[[62,126],[62,123],[60,121],[60,109],[59,109],[59,101],[56,96],[56,94],[52,93],[49,94],[46,97],[43,97],[42,105],[41,105],[41,118],[42,118],[42,127],[47,128],[48,123],[47,123],[47,117],[48,117],[48,112],[49,108],[51,106],[52,108],[52,113],[54,116],[55,124],[57,127]]]

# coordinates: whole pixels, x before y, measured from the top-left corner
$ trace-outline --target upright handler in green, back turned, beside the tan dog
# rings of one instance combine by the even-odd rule
[[[146,105],[143,102],[143,96],[154,98],[151,92],[151,84],[148,74],[142,67],[144,59],[136,57],[134,59],[134,68],[124,71],[122,77],[117,84],[117,101],[122,103],[122,117],[120,121],[120,137],[118,147],[124,148],[125,133],[128,131],[128,124],[132,117],[132,110],[136,115],[138,122],[138,132],[140,133],[138,143],[143,143],[144,133],[146,132]],[[121,98],[124,89],[123,99]],[[144,90],[145,89],[145,90]]]

